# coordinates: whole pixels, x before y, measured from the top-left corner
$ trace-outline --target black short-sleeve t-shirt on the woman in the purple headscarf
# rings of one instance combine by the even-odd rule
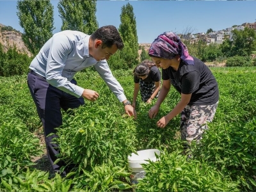
[[[198,58],[193,59],[194,65],[181,60],[177,71],[172,67],[163,69],[162,79],[170,79],[179,93],[192,93],[189,104],[214,104],[219,100],[218,83],[204,62]]]

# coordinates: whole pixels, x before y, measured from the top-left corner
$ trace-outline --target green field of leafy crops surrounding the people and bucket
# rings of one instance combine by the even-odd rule
[[[79,72],[76,80],[100,94],[72,113],[63,111],[58,128],[60,159],[76,164],[66,178],[35,168],[33,158],[43,154],[36,136],[42,124],[29,94],[26,75],[0,77],[0,191],[132,191],[127,156],[157,148],[161,161],[143,165],[145,179],[136,191],[255,191],[256,190],[256,67],[211,68],[220,88],[214,120],[200,145],[183,154],[179,116],[164,128],[156,126],[180,95],[171,88],[156,118],[148,118],[154,105],[138,97],[138,118],[124,107],[97,72]],[[132,99],[132,70],[114,76]]]

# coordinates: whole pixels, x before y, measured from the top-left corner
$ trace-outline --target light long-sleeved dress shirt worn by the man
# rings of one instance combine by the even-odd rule
[[[124,89],[113,76],[107,61],[96,61],[90,56],[89,38],[90,35],[80,31],[67,30],[55,33],[36,55],[29,68],[45,77],[52,86],[81,97],[84,88],[70,81],[78,71],[94,66],[118,100],[124,101]]]

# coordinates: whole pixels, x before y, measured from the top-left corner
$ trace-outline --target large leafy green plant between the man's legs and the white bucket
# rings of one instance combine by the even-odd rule
[[[104,97],[104,96],[103,96]],[[63,116],[65,129],[58,129],[61,158],[75,163],[79,170],[92,170],[97,164],[112,161],[126,165],[126,158],[135,151],[136,138],[131,118],[120,118],[106,106],[83,106],[76,116]]]

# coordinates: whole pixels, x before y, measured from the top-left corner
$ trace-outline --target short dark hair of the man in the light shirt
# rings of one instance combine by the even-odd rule
[[[116,45],[117,49],[123,49],[123,40],[115,26],[103,26],[97,29],[92,35],[92,40],[102,40],[102,49]]]

